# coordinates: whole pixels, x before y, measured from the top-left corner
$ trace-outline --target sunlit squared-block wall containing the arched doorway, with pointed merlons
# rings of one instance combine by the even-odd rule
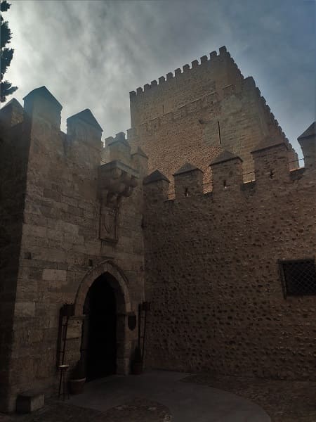
[[[142,184],[121,202],[117,242],[101,240],[104,203],[100,198],[103,193],[98,193],[98,172],[103,155],[102,129],[87,123],[85,115],[79,113],[68,119],[67,134],[60,132],[60,110],[58,101],[44,87],[32,91],[20,110],[20,123],[7,122],[6,140],[1,145],[1,188],[3,193],[10,188],[13,196],[1,203],[1,223],[11,235],[12,246],[1,244],[1,252],[6,252],[1,255],[5,284],[0,308],[10,318],[8,330],[1,331],[1,358],[6,354],[1,388],[8,393],[2,410],[13,410],[18,393],[31,387],[48,395],[56,391],[60,308],[65,303],[76,304],[65,357],[72,365],[80,356],[83,304],[89,284],[105,271],[122,280],[116,286],[121,295],[119,373],[128,373],[136,342],[137,330],[127,328],[126,315],[137,314],[138,303],[144,300]],[[126,161],[137,168],[141,178],[145,167],[140,160],[138,154],[131,156],[127,150]],[[9,254],[12,263],[5,262]]]

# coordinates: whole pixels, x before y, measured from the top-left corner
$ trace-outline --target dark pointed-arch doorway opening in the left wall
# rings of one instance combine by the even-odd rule
[[[117,373],[117,300],[113,283],[113,276],[102,274],[89,288],[84,302],[81,356],[86,362],[87,381]]]

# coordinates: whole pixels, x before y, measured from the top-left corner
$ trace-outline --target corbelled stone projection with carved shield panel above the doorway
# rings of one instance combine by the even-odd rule
[[[100,231],[103,241],[118,241],[119,209],[123,197],[131,196],[138,185],[138,172],[118,160],[100,165],[98,196],[100,199]]]

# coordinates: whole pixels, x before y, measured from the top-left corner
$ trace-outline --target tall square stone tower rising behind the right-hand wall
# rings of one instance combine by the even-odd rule
[[[244,78],[225,47],[210,59],[195,60],[144,89],[131,91],[129,141],[149,157],[150,171],[171,179],[185,162],[204,171],[211,190],[209,163],[228,150],[244,160],[244,180],[254,178],[251,151],[266,136],[285,138],[252,77]],[[289,160],[296,160],[289,148]]]

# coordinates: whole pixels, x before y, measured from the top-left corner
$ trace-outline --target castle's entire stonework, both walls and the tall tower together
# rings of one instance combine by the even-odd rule
[[[291,145],[225,49],[152,85],[131,95],[129,141],[119,132],[105,148],[90,110],[60,131],[45,87],[24,111],[0,111],[0,409],[30,385],[56,391],[60,308],[74,304],[72,366],[103,274],[117,373],[137,344],[127,315],[150,300],[149,366],[315,377],[315,296],[285,299],[277,265],[315,256],[315,139],[301,139],[306,167],[289,172]]]

